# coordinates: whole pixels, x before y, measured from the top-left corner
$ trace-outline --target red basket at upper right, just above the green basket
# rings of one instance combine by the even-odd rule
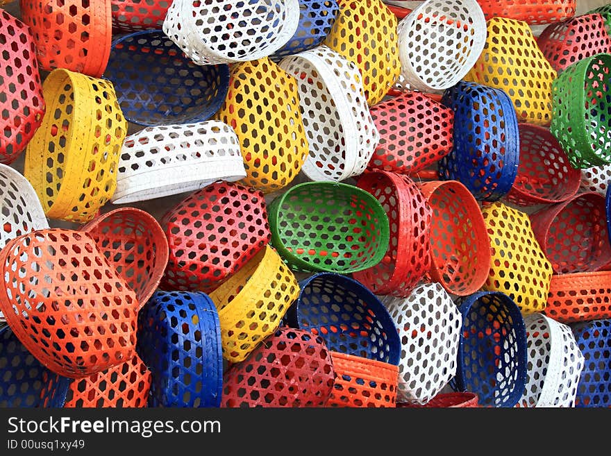
[[[567,22],[550,24],[537,44],[553,69],[564,70],[584,58],[611,50],[605,19],[599,14],[581,15]]]

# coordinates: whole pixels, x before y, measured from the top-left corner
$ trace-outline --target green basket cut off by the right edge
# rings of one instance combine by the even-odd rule
[[[574,168],[611,163],[611,55],[570,65],[553,81],[551,133]]]

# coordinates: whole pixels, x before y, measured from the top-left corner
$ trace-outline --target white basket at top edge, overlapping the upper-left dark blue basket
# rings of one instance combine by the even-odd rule
[[[298,25],[299,0],[174,0],[163,31],[197,65],[211,65],[270,56]]]

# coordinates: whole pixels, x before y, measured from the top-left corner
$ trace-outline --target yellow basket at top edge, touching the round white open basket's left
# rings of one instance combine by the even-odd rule
[[[355,63],[365,98],[379,103],[401,72],[397,19],[380,0],[340,0],[340,13],[324,44]]]

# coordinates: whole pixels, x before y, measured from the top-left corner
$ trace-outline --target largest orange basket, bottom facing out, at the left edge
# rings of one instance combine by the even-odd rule
[[[6,321],[51,371],[78,378],[133,357],[135,294],[88,235],[37,230],[10,241],[0,264]]]

